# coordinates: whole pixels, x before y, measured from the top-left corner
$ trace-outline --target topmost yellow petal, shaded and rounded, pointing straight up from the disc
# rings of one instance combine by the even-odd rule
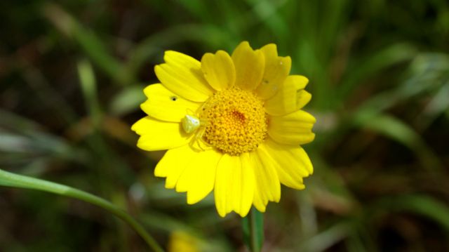
[[[232,61],[236,69],[236,86],[249,90],[259,86],[265,64],[262,51],[254,51],[247,41],[243,41],[232,53]]]

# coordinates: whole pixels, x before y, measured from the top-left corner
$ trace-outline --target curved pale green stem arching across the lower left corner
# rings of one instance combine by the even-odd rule
[[[95,206],[100,206],[100,208],[109,211],[116,215],[116,217],[121,218],[124,222],[128,223],[130,227],[137,232],[142,239],[148,244],[153,251],[162,252],[163,249],[156,240],[145,231],[145,229],[140,225],[133,217],[128,213],[123,211],[121,208],[115,206],[111,202],[97,197],[88,192],[83,192],[81,190],[75,189],[73,187],[68,187],[67,185],[60,185],[58,183],[53,183],[46,180],[41,180],[38,178],[30,178],[25,175],[18,175],[14,173],[9,173],[7,171],[0,169],[0,185],[6,187],[18,187],[32,190],[40,190],[44,192],[51,192],[53,194],[59,194],[66,197],[72,197],[74,199],[79,199],[81,201],[86,201]]]

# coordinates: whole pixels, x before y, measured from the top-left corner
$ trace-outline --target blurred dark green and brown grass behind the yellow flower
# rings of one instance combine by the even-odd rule
[[[0,21],[0,168],[109,199],[165,248],[244,251],[240,218],[163,189],[130,125],[163,51],[276,43],[310,79],[315,173],[269,204],[264,251],[449,251],[448,1],[18,0]],[[0,251],[146,249],[100,208],[0,188]]]

